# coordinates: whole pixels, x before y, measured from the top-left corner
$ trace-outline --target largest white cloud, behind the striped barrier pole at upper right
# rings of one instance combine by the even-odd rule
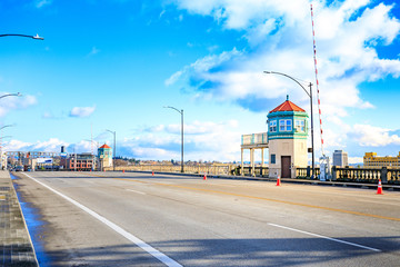
[[[266,105],[269,99],[280,101],[289,93],[292,101],[309,112],[309,98],[298,85],[284,77],[262,75],[263,70],[274,70],[316,83],[309,1],[173,2],[178,9],[212,17],[224,29],[244,32],[249,46],[198,59],[173,73],[166,85],[184,82],[196,97],[230,100],[264,112],[274,107]],[[391,44],[399,37],[400,21],[391,13],[393,6],[371,0],[312,3],[322,121],[329,122],[323,129],[326,144],[346,147],[346,138],[354,130],[357,136],[351,136],[352,140],[362,146],[398,144],[398,136],[386,129],[377,128],[378,132],[370,134],[366,126],[356,129],[343,122],[351,109],[374,108],[360,93],[362,82],[400,76],[399,58],[383,59],[377,51],[379,46]],[[318,110],[313,88],[313,108]],[[317,122],[318,115],[314,117]]]

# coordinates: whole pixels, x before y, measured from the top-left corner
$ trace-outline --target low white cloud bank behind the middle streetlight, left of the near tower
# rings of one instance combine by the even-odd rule
[[[238,160],[240,137],[238,121],[193,121],[184,125],[186,160]],[[180,160],[180,125],[160,125],[143,129],[134,138],[119,144],[119,151],[142,159]]]

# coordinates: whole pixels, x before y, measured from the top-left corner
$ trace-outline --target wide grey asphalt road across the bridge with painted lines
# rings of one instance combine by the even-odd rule
[[[132,172],[27,175],[14,182],[36,210],[30,228],[42,267],[400,265],[399,192]]]

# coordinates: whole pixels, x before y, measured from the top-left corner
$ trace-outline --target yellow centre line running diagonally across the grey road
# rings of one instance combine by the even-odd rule
[[[371,214],[364,214],[364,212],[358,212],[358,211],[351,211],[351,210],[338,209],[338,208],[329,208],[329,207],[322,207],[322,206],[316,206],[316,205],[309,205],[309,204],[292,202],[292,201],[287,201],[287,200],[272,199],[272,198],[256,197],[256,196],[248,196],[248,195],[241,195],[241,194],[234,194],[234,192],[226,192],[226,191],[193,188],[193,187],[186,187],[186,186],[178,186],[178,185],[169,185],[169,184],[162,184],[162,182],[150,182],[150,181],[134,180],[134,179],[122,179],[122,178],[114,178],[114,179],[129,180],[129,181],[136,181],[136,182],[141,182],[141,184],[151,184],[151,185],[158,185],[158,186],[176,187],[176,188],[182,188],[182,189],[189,189],[189,190],[196,190],[196,191],[214,192],[214,194],[227,195],[227,196],[266,200],[266,201],[271,201],[271,202],[280,202],[280,204],[294,205],[294,206],[307,207],[307,208],[316,208],[316,209],[323,209],[323,210],[342,212],[342,214],[351,214],[351,215],[358,215],[358,216],[364,216],[364,217],[400,221],[400,218],[393,218],[393,217],[387,217],[387,216],[380,216],[380,215],[371,215]]]

